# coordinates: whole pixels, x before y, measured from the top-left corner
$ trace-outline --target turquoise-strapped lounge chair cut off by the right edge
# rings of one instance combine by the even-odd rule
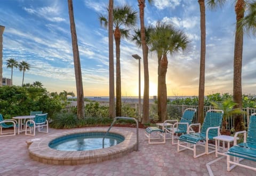
[[[238,134],[244,134],[244,142],[238,143],[236,137]],[[245,167],[256,171],[256,167],[248,166],[239,163],[243,159],[256,162],[256,113],[250,116],[250,122],[248,127],[248,135],[246,140],[246,131],[239,131],[235,133],[234,146],[228,150],[227,155],[227,171],[231,171],[236,166]],[[234,160],[230,160],[230,156],[234,156]],[[233,164],[230,166],[230,164]]]

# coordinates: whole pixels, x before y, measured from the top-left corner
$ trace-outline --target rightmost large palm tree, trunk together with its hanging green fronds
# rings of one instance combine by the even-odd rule
[[[225,3],[225,0],[209,0],[210,7],[216,7],[219,4]],[[235,47],[234,47],[234,76],[233,76],[233,99],[237,103],[235,108],[242,110],[242,59],[243,59],[243,36],[244,29],[249,32],[256,30],[256,2],[250,0],[235,1],[236,13],[236,33],[235,33]],[[234,127],[236,131],[244,129],[243,116],[237,115],[234,119]]]

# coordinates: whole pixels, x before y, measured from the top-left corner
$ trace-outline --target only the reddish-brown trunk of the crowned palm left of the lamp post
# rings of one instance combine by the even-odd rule
[[[120,66],[120,41],[121,32],[117,27],[114,32],[116,42],[116,116],[122,116],[122,101],[121,101],[121,66]]]

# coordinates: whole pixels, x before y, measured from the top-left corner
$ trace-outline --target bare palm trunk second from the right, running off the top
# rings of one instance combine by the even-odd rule
[[[201,58],[198,92],[198,122],[204,121],[204,83],[205,83],[205,3],[204,0],[198,0],[200,6],[200,27],[201,27]]]

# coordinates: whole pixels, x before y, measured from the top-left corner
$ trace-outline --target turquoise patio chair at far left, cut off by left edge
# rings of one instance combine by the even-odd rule
[[[11,123],[11,124],[10,124]],[[7,137],[10,135],[16,134],[17,121],[14,119],[6,119],[4,120],[3,115],[0,114],[0,137]],[[3,129],[7,129],[9,127],[13,127],[13,133],[3,133]]]

